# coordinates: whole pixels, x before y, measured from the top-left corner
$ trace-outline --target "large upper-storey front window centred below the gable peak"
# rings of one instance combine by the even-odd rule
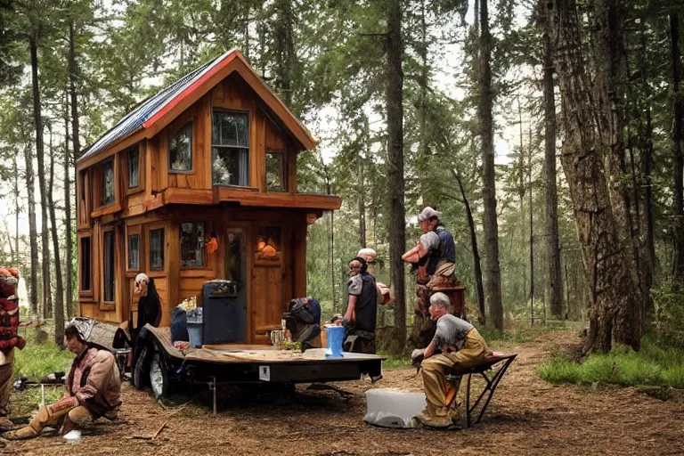
[[[211,126],[212,182],[249,185],[248,114],[214,111]]]

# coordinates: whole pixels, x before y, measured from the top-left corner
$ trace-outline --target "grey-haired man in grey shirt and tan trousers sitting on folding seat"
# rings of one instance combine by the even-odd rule
[[[446,379],[447,371],[457,363],[469,369],[492,354],[473,325],[449,313],[450,305],[444,293],[437,292],[430,297],[429,313],[437,322],[435,337],[425,350],[414,350],[411,354],[414,359],[423,357],[420,367],[426,406],[418,419],[432,428],[448,428],[452,420],[459,419],[455,398],[460,381],[452,386]],[[461,342],[463,346],[459,350],[457,346]],[[436,354],[437,350],[441,353]]]

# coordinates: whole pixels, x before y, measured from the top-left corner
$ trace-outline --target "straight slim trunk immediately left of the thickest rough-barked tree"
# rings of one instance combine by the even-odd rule
[[[548,287],[550,311],[563,318],[563,284],[558,245],[558,189],[556,176],[556,96],[553,84],[553,45],[548,3],[542,5],[542,40],[544,62],[544,217],[546,219],[546,252],[549,257]]]

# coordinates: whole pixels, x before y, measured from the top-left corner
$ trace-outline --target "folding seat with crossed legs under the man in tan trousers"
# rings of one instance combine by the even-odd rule
[[[485,398],[486,395],[486,400],[485,404],[482,407],[482,410],[480,411],[479,415],[477,415],[477,419],[475,420],[475,423],[479,423],[480,419],[482,419],[482,416],[485,414],[485,411],[487,410],[487,405],[489,405],[489,402],[492,400],[492,397],[494,395],[494,391],[496,390],[496,387],[499,386],[499,382],[501,381],[501,378],[503,377],[503,374],[508,371],[510,364],[513,362],[513,360],[516,359],[517,354],[501,354],[501,353],[493,353],[490,354],[489,356],[485,357],[485,359],[477,364],[475,367],[472,367],[470,369],[463,369],[461,368],[458,364],[454,365],[453,368],[449,371],[449,374],[454,376],[454,377],[460,377],[467,375],[468,376],[468,384],[466,386],[466,423],[468,428],[470,428],[470,425],[472,423],[472,413],[475,411],[477,405],[482,401],[483,398]],[[490,369],[493,369],[494,366],[497,366],[498,368],[496,371],[494,371],[494,375],[492,379],[489,379],[487,375],[485,374],[486,371],[489,371]],[[480,393],[480,395],[477,396],[477,400],[473,405],[470,405],[470,385],[471,385],[471,377],[473,374],[479,374],[482,376],[483,379],[485,379],[486,382],[486,387]],[[457,391],[454,391],[454,395],[457,393]]]

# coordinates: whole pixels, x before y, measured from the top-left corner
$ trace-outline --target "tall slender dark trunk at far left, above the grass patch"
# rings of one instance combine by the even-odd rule
[[[50,290],[50,233],[47,226],[47,194],[45,188],[45,151],[43,146],[43,118],[40,104],[40,86],[38,83],[38,44],[37,37],[32,34],[29,39],[31,52],[31,83],[33,85],[33,120],[36,126],[36,157],[38,162],[38,188],[40,190],[41,216],[41,252],[43,254],[43,318],[47,318],[47,310],[52,308],[52,292]]]

